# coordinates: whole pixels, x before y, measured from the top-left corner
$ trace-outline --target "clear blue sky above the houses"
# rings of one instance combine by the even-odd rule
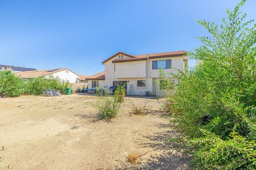
[[[236,0],[0,1],[0,64],[91,75],[118,51],[133,55],[191,50]],[[242,8],[255,19],[256,1]],[[194,65],[190,61],[189,65]]]

